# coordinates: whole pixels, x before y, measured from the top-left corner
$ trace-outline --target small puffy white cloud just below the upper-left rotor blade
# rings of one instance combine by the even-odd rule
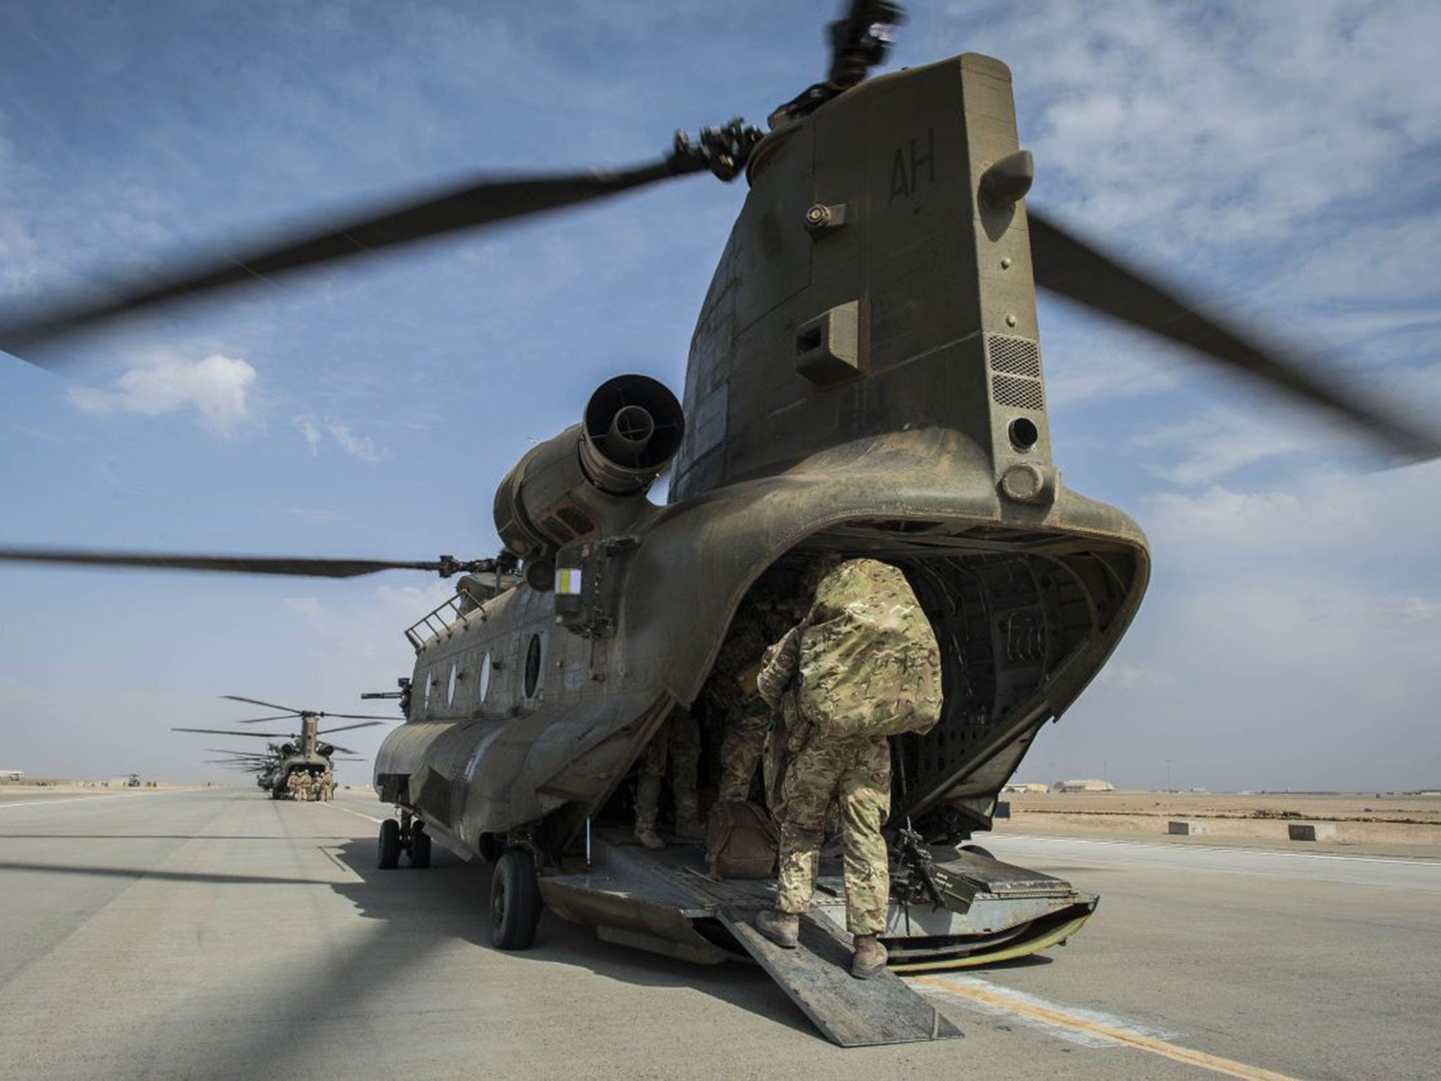
[[[164,360],[125,372],[112,389],[72,386],[71,404],[81,412],[105,417],[135,412],[163,417],[192,408],[216,435],[229,437],[249,414],[255,369],[238,357],[212,353],[203,360]]]

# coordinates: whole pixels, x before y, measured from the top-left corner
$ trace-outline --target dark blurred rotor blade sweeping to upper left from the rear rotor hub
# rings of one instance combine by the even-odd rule
[[[412,244],[429,236],[526,218],[617,195],[633,187],[703,169],[703,163],[670,156],[620,173],[585,172],[561,176],[480,179],[378,203],[331,228],[300,228],[231,258],[193,262],[163,278],[133,281],[110,300],[72,300],[24,319],[0,321],[0,349],[23,356],[26,349],[146,308],[229,290],[366,252]],[[49,362],[42,368],[53,368]]]

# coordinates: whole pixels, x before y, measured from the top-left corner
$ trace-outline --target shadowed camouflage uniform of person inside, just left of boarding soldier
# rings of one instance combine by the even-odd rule
[[[706,683],[706,715],[722,724],[720,800],[746,800],[751,778],[765,748],[771,708],[755,688],[751,669],[758,669],[765,647],[785,630],[784,617],[762,608],[749,597],[731,620],[720,644],[715,672]]]

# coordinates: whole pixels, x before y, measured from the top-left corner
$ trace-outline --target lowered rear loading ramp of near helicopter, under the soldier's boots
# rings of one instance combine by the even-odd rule
[[[948,850],[944,853],[951,856]],[[823,859],[816,902],[801,917],[800,947],[782,950],[752,927],[775,901],[774,879],[722,879],[705,866],[700,845],[640,848],[625,830],[598,829],[591,860],[542,875],[540,895],[562,918],[598,937],[700,964],[754,960],[801,1012],[840,1046],[954,1039],[961,1032],[899,977],[899,971],[954,969],[1036,953],[1075,933],[1097,898],[1068,882],[960,852],[929,865],[932,894],[893,876],[882,940],[891,970],[850,976],[840,862]]]

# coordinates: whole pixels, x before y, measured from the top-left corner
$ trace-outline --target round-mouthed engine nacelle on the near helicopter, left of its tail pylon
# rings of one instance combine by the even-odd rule
[[[532,447],[496,489],[496,532],[526,561],[623,529],[680,448],[686,419],[664,383],[601,383],[585,419]]]

